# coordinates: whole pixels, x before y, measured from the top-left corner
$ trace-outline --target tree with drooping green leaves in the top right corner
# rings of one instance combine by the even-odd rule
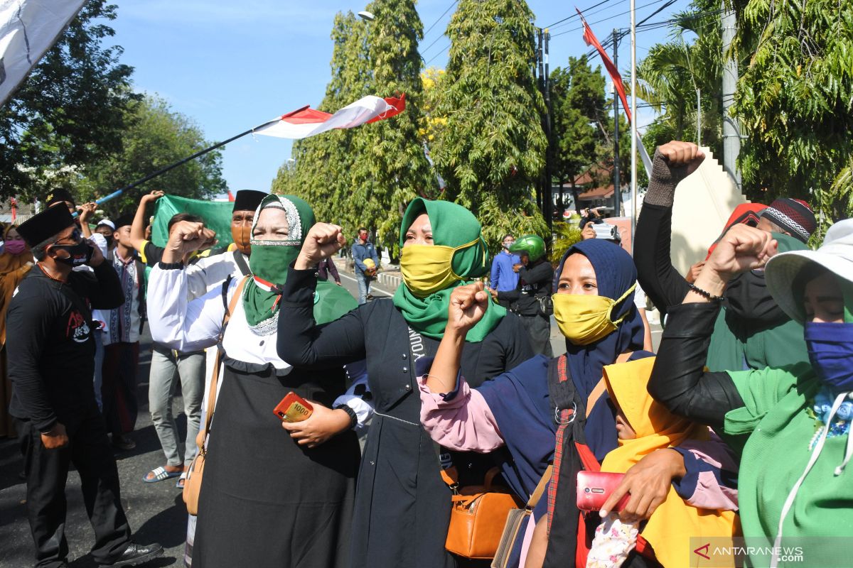
[[[853,3],[740,0],[734,112],[752,196],[808,199],[830,219],[853,214]]]

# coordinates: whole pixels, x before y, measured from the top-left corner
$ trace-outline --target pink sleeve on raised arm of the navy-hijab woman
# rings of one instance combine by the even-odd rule
[[[432,358],[418,359],[418,387],[421,391],[421,424],[430,437],[445,448],[488,453],[503,445],[495,416],[483,395],[468,387],[461,372],[452,393],[432,393],[427,373]]]

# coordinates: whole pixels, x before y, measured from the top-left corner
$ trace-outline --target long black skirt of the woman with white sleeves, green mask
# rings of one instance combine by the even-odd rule
[[[330,406],[343,370],[225,359],[199,496],[193,565],[345,568],[358,468],[355,433],[297,445],[273,408],[293,391]],[[243,519],[244,522],[235,522]]]

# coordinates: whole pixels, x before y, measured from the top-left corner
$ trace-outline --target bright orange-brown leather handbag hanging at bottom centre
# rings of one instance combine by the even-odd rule
[[[444,470],[442,473],[444,477]],[[491,468],[485,474],[484,485],[454,490],[450,526],[444,543],[444,548],[453,554],[470,559],[494,558],[507,515],[519,507],[519,502],[508,488],[492,486],[498,473],[500,469]],[[455,485],[450,487],[452,489]]]

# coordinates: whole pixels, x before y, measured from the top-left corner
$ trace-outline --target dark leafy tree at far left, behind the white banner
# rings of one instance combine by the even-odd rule
[[[43,198],[53,173],[121,148],[132,67],[105,47],[116,6],[90,0],[15,94],[0,107],[0,196]]]

